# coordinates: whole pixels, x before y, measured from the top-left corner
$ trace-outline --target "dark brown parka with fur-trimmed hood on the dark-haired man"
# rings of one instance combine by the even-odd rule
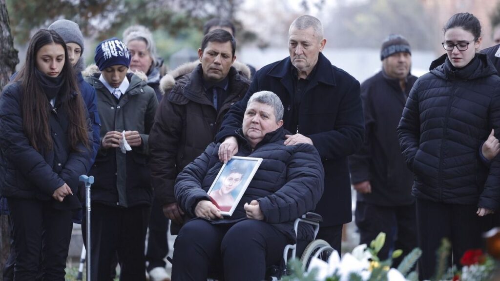
[[[186,68],[189,65],[194,68]],[[213,141],[224,114],[244,96],[250,84],[231,67],[227,74],[227,98],[217,112],[203,90],[201,64],[182,67],[176,70],[190,71],[175,77],[175,81],[171,74],[171,81],[164,84],[167,93],[156,112],[149,137],[151,182],[162,205],[175,202],[175,177]]]

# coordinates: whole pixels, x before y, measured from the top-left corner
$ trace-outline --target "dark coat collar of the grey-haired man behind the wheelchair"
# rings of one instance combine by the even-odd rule
[[[288,56],[287,58],[279,61],[268,72],[269,76],[281,78],[281,83],[283,83],[289,92],[293,92],[293,75],[291,73],[291,67],[294,66]],[[310,77],[309,88],[315,86],[317,83],[323,83],[331,86],[336,85],[333,71],[331,71],[331,62],[323,55],[322,52],[319,53],[317,58],[316,73]]]

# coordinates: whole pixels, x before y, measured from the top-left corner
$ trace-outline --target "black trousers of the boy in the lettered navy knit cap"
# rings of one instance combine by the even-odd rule
[[[83,212],[85,218],[86,212]],[[145,280],[144,240],[149,206],[129,208],[92,203],[90,210],[90,258],[92,280],[110,280],[113,256],[118,253],[120,281]],[[82,232],[85,241],[86,221]]]

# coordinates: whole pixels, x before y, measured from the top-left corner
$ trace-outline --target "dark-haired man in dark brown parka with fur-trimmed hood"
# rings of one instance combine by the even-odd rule
[[[164,97],[149,138],[155,196],[176,234],[184,211],[175,201],[177,174],[213,141],[229,107],[249,86],[250,70],[235,63],[236,42],[227,31],[208,32],[198,49],[199,61],[168,72],[160,81]]]

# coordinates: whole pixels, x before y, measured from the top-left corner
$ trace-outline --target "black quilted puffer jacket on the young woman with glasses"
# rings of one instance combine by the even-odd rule
[[[443,203],[497,209],[500,162],[479,156],[491,128],[500,137],[500,77],[484,54],[455,69],[446,55],[413,85],[397,127],[415,180],[412,194]]]

